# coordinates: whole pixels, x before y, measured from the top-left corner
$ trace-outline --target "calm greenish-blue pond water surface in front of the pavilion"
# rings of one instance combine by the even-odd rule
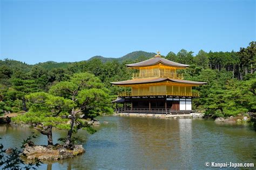
[[[201,169],[208,162],[253,162],[256,132],[249,126],[210,120],[100,117],[97,133],[79,131],[86,152],[74,159],[48,162],[39,169]],[[103,124],[107,121],[108,124]],[[32,128],[1,125],[4,147],[21,146]],[[39,133],[38,133],[39,134]],[[65,131],[54,131],[53,142]],[[44,135],[36,144],[47,144]]]

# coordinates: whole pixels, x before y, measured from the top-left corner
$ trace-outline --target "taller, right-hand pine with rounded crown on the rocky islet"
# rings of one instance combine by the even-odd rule
[[[50,93],[64,97],[75,103],[69,112],[70,128],[65,141],[65,147],[72,145],[71,137],[74,131],[81,128],[78,114],[84,118],[93,119],[100,113],[112,113],[109,91],[99,78],[90,73],[73,74],[69,81],[62,81],[51,87]],[[87,130],[91,130],[90,128]]]

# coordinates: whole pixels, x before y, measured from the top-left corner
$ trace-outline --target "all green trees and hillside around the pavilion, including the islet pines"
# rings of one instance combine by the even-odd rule
[[[0,60],[0,116],[5,115],[1,119],[30,125],[45,135],[48,145],[40,149],[46,149],[47,153],[47,149],[58,146],[59,153],[63,151],[67,155],[72,151],[70,157],[75,156],[80,146],[75,145],[78,139],[73,134],[80,129],[95,133],[92,121],[98,115],[114,113],[111,101],[124,89],[111,86],[110,82],[130,79],[133,70],[127,69],[125,64],[151,58],[155,53],[139,51],[129,55],[130,59],[123,57],[122,61],[96,57],[65,64],[28,65],[16,60]],[[256,112],[256,42],[241,47],[238,52],[200,50],[193,56],[192,51],[182,49],[177,54],[169,52],[162,57],[189,64],[188,69],[179,71],[185,79],[207,82],[193,89],[200,94],[193,99],[193,110],[218,122],[242,124],[251,120],[255,127],[255,114],[249,118],[247,113]],[[14,113],[17,113],[14,117],[8,116]],[[199,114],[194,116],[203,117]],[[156,114],[152,117],[156,118]],[[63,145],[53,144],[52,128],[66,131],[66,136],[60,139]],[[32,151],[37,146],[27,147]],[[83,153],[82,149],[79,153]]]

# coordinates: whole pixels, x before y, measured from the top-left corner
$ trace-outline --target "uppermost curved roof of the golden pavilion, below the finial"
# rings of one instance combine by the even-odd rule
[[[167,60],[165,58],[161,58],[160,56],[155,56],[153,58],[147,59],[143,62],[139,62],[139,63],[133,63],[133,64],[126,64],[126,66],[128,67],[142,67],[142,66],[151,66],[151,65],[155,65],[155,64],[164,64],[164,65],[168,65],[168,66],[174,66],[174,67],[188,67],[190,65],[187,64],[180,64],[180,63],[176,63],[176,62],[172,62],[170,60]]]

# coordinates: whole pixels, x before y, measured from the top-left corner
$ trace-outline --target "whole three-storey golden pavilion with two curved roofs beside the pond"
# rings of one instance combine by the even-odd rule
[[[113,101],[123,103],[117,112],[191,113],[192,98],[199,97],[198,93],[192,92],[192,87],[206,84],[184,80],[183,74],[178,74],[177,70],[189,65],[162,58],[160,52],[153,58],[126,66],[137,69],[138,73],[133,73],[131,80],[111,83],[124,87],[124,92],[118,93],[118,98]]]

